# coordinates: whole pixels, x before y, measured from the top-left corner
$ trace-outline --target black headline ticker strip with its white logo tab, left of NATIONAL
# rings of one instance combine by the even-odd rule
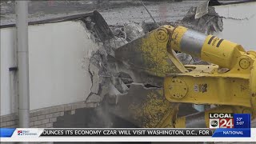
[[[69,137],[69,136],[199,136],[211,137],[214,130],[210,129],[145,129],[145,128],[34,128],[15,129],[0,128],[1,137]]]

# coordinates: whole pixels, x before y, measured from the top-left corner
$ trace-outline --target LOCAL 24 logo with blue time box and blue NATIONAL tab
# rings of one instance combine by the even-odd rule
[[[250,137],[250,114],[210,113],[209,128],[213,137]]]

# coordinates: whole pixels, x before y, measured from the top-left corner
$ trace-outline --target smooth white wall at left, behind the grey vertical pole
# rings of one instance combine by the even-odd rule
[[[98,46],[82,22],[29,26],[30,110],[85,101],[89,58]],[[17,111],[15,28],[1,29],[1,115]]]

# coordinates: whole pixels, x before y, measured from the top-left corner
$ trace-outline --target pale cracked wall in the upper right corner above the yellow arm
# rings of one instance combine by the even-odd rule
[[[215,10],[223,18],[223,31],[216,35],[256,50],[256,2],[215,6]]]

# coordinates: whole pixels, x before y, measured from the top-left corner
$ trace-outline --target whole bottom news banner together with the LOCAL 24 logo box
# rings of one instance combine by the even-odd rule
[[[146,141],[151,142],[169,142],[181,137],[182,140],[188,140],[188,142],[191,140],[218,141],[218,138],[226,138],[227,142],[232,142],[235,138],[240,138],[239,141],[244,142],[256,142],[256,129],[250,128],[250,114],[209,114],[209,123],[210,129],[0,128],[0,137],[4,142],[21,142],[22,138],[26,138],[26,140],[29,138],[30,142],[63,142],[64,139],[68,142],[86,142],[87,140],[90,142],[93,141],[93,138],[95,142],[101,142],[101,140],[126,142],[126,138],[133,138],[134,142],[135,139],[137,139],[136,142],[143,142],[142,140],[145,138]],[[106,139],[104,140],[104,138]],[[150,140],[150,138],[154,139]],[[225,140],[222,139],[222,141]]]

